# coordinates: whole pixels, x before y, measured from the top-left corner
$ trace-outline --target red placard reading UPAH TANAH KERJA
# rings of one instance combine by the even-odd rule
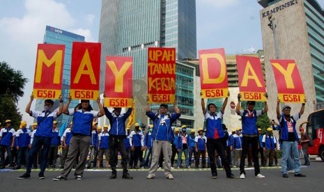
[[[176,48],[148,47],[148,97],[151,103],[176,99]]]

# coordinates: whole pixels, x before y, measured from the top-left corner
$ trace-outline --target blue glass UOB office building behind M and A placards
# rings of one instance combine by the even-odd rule
[[[72,42],[84,42],[84,36],[70,33],[62,29],[57,29],[52,26],[46,26],[44,43],[45,44],[63,44],[65,45],[64,65],[63,65],[63,77],[62,77],[62,97],[64,104],[67,102],[68,94],[70,93],[70,74],[71,74],[71,58],[72,58]],[[77,106],[79,100],[72,100],[70,107]],[[54,100],[53,109],[59,107],[59,100]],[[36,111],[44,110],[44,99],[36,99]],[[59,127],[62,123],[71,120],[71,116],[61,115],[57,118]]]

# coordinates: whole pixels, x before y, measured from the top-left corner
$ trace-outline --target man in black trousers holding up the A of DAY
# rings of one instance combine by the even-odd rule
[[[265,97],[268,98],[268,94],[265,93]],[[259,115],[263,115],[268,111],[268,104],[264,102],[264,109],[256,111],[254,106],[255,101],[247,101],[247,109],[240,110],[240,93],[238,94],[238,104],[236,105],[236,113],[242,118],[242,154],[240,157],[240,179],[245,179],[245,158],[247,157],[247,151],[249,145],[252,145],[253,161],[254,161],[254,175],[256,178],[264,178],[260,174],[259,165],[259,131],[256,127],[256,118]]]

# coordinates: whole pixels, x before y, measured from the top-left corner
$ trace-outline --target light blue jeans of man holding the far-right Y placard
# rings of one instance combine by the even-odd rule
[[[300,159],[297,141],[282,141],[281,173],[287,173],[287,161],[289,156],[293,157],[295,174],[300,173]]]

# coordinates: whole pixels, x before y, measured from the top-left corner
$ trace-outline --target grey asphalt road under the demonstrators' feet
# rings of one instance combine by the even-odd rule
[[[303,162],[303,161],[302,161]],[[261,168],[264,179],[254,177],[254,170],[247,168],[245,179],[227,179],[224,170],[218,169],[217,179],[211,179],[210,170],[180,169],[173,170],[175,179],[164,177],[162,171],[157,172],[155,179],[146,179],[148,170],[130,170],[132,180],[121,179],[121,170],[118,170],[117,179],[109,179],[109,170],[86,170],[83,180],[75,180],[73,170],[66,181],[53,181],[59,175],[59,170],[46,170],[45,179],[38,179],[38,171],[33,170],[31,179],[17,179],[24,173],[23,170],[0,172],[0,191],[324,191],[324,162],[313,160],[311,166],[303,166],[302,174],[307,177],[281,177],[281,168]],[[238,168],[233,168],[233,174],[238,176]]]

